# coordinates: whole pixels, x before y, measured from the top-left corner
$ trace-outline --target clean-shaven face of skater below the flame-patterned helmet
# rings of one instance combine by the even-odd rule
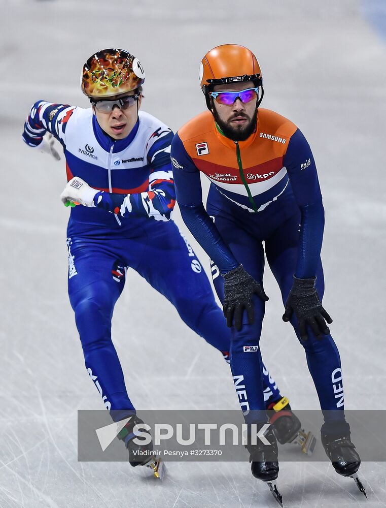
[[[135,95],[134,90],[111,99],[117,100],[130,95]],[[101,111],[93,106],[92,110],[99,125],[106,134],[114,139],[124,139],[130,134],[138,119],[138,109],[141,107],[141,102],[142,94],[139,95],[137,101],[128,106],[126,104],[122,107],[114,105],[111,111]]]

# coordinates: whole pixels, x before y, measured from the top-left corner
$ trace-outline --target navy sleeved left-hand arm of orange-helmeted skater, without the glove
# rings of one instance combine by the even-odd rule
[[[222,239],[202,204],[200,173],[178,134],[171,144],[176,196],[184,223],[222,274],[237,268],[240,263]]]

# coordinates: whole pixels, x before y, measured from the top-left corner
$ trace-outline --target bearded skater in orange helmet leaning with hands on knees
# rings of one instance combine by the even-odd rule
[[[237,392],[242,379],[245,422],[258,429],[267,423],[259,376],[266,260],[282,293],[283,320],[304,348],[318,393],[323,446],[339,474],[357,478],[360,458],[343,412],[340,357],[328,327],[332,319],[322,306],[324,208],[312,151],[291,120],[260,107],[262,72],[248,48],[211,49],[201,60],[199,79],[209,111],[173,138],[174,184],[185,224],[218,268],[214,284],[232,330],[230,364]],[[210,181],[206,209],[200,173]],[[269,447],[249,447],[252,472],[273,482],[277,444],[271,429],[265,437]],[[340,454],[336,460],[333,449]],[[274,494],[279,500],[277,489]]]

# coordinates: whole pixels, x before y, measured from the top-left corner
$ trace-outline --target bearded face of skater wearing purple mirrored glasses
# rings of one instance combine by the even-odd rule
[[[216,85],[213,91],[240,91],[254,88],[254,86],[252,81],[230,83]],[[252,97],[253,99],[249,100],[249,102],[242,102],[238,97],[233,104],[220,104],[217,100],[211,99],[215,120],[227,138],[234,141],[243,141],[255,131],[257,95],[253,91]],[[250,96],[248,99],[250,99]]]

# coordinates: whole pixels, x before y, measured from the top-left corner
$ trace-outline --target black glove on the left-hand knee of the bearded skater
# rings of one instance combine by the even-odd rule
[[[236,330],[241,330],[244,309],[247,310],[250,325],[255,321],[253,294],[258,295],[264,302],[268,300],[260,282],[251,277],[242,265],[224,275],[224,316],[229,327],[232,326],[234,318]]]

